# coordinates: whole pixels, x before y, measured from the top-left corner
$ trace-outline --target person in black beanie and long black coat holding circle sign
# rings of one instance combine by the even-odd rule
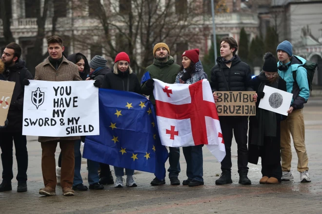
[[[284,115],[259,108],[265,96],[264,86],[286,91],[286,82],[279,76],[276,58],[272,53],[264,55],[260,75],[252,79],[256,94],[256,116],[249,117],[248,162],[257,164],[262,159],[262,178],[260,183],[276,184],[281,182],[281,121]]]

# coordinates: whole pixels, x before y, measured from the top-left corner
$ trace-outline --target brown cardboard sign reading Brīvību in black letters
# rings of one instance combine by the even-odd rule
[[[255,91],[216,91],[218,116],[256,115]]]

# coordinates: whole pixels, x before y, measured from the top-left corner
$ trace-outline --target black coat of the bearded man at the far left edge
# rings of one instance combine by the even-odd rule
[[[24,77],[20,77],[22,70],[25,72]],[[20,80],[23,80],[24,78],[30,80],[34,79],[28,69],[25,68],[25,62],[22,59],[19,59],[18,63],[5,68],[5,70],[0,73],[0,80],[16,82],[7,116],[8,126],[6,128],[1,128],[0,132],[22,132],[24,86],[21,84]]]

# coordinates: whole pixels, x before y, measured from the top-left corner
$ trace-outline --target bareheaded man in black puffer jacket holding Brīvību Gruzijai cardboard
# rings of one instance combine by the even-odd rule
[[[217,65],[211,69],[211,82],[213,91],[252,91],[251,74],[249,66],[241,62],[236,55],[237,42],[232,37],[221,39],[220,54]],[[215,102],[218,96],[214,93]],[[248,152],[247,152],[247,116],[221,116],[219,117],[223,140],[225,142],[226,156],[221,161],[221,177],[216,184],[232,183],[231,179],[231,141],[233,132],[238,147],[238,173],[239,183],[251,184],[247,178]]]

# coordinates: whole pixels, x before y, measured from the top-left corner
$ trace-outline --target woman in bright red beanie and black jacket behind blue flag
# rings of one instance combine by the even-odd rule
[[[137,75],[130,67],[130,58],[125,52],[117,54],[114,61],[113,72],[105,74],[101,88],[126,90],[135,93],[140,93],[141,85]],[[114,166],[116,181],[115,187],[123,187],[124,168]],[[137,184],[133,179],[134,170],[125,169],[126,186],[136,187]]]

